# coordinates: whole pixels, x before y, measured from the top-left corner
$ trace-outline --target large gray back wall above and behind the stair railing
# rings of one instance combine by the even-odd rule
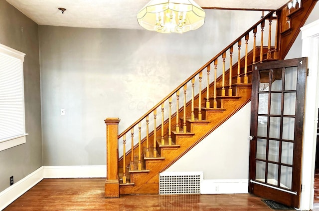
[[[184,34],[39,26],[43,165],[104,165],[104,119],[126,129],[247,29],[234,15],[208,10]]]

